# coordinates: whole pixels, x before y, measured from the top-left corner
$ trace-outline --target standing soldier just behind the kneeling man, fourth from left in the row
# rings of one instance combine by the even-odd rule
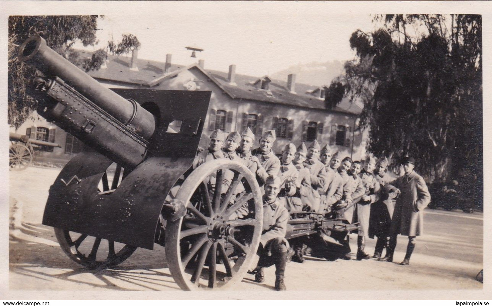
[[[277,139],[275,130],[265,131],[260,138],[260,146],[253,150],[249,158],[255,162],[258,169],[256,170],[256,180],[258,184],[263,186],[267,177],[277,175],[280,169],[280,160],[272,150],[272,146]]]

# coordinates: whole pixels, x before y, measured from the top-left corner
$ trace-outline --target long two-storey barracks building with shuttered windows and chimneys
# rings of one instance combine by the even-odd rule
[[[90,57],[91,53],[81,52],[80,56]],[[106,63],[89,75],[108,88],[212,91],[200,143],[204,148],[215,129],[241,133],[249,127],[256,141],[263,131],[276,130],[273,150],[277,154],[289,142],[298,146],[305,141],[308,146],[314,139],[354,160],[366,154],[367,131],[357,130],[362,106],[348,99],[331,106],[329,101],[325,103],[327,86],[296,83],[295,74],[285,76],[285,80],[252,77],[237,74],[235,65],[223,72],[206,69],[204,60],[183,66],[174,64],[170,54],[160,62],[140,59],[134,51],[132,56],[108,56]],[[64,163],[83,148],[80,141],[35,112],[17,131],[11,131],[62,146],[36,151],[37,161]]]

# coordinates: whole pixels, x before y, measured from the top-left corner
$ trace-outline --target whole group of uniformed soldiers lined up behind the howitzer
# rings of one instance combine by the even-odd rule
[[[404,175],[396,180],[386,173],[388,159],[368,157],[364,162],[342,157],[329,145],[321,148],[317,140],[308,147],[301,143],[285,145],[281,155],[272,146],[275,130],[265,131],[259,146],[252,149],[255,135],[249,128],[239,134],[215,130],[210,135],[208,150],[197,155],[193,167],[209,160],[228,158],[245,165],[260,187],[263,187],[263,232],[255,269],[256,282],[264,281],[264,267],[275,264],[276,290],[285,290],[283,281],[289,243],[285,240],[290,213],[312,212],[327,215],[333,212],[350,223],[359,222],[357,260],[369,259],[365,252],[366,238],[377,237],[373,258],[393,261],[397,235],[409,238],[406,255],[401,262],[408,265],[415,247],[415,237],[422,234],[422,210],[430,195],[424,179],[413,171],[415,160],[401,161]],[[396,203],[395,200],[396,199]],[[239,210],[237,218],[242,214]],[[303,241],[291,241],[292,261],[303,263]],[[382,256],[386,249],[385,256]],[[350,252],[338,258],[351,259]]]

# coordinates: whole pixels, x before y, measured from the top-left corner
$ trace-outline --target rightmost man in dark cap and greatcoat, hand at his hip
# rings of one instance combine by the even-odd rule
[[[416,236],[422,235],[424,231],[423,209],[429,205],[431,195],[427,189],[424,178],[417,174],[415,159],[413,157],[404,158],[401,162],[404,174],[389,183],[398,189],[400,196],[395,204],[393,219],[390,227],[390,243],[387,255],[380,258],[380,261],[393,261],[393,253],[397,246],[397,235],[408,236],[408,245],[405,258],[401,265],[406,266],[410,262],[410,256],[415,249]]]

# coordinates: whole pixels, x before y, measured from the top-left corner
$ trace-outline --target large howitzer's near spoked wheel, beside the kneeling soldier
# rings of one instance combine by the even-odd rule
[[[214,160],[186,178],[176,199],[187,213],[167,223],[169,270],[184,290],[230,288],[255,257],[263,227],[256,177],[238,162]]]

